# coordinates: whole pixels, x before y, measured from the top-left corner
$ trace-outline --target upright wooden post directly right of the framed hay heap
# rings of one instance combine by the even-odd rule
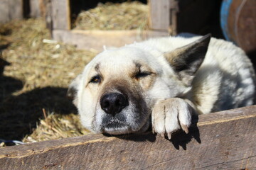
[[[149,27],[153,30],[169,30],[171,0],[149,0]]]

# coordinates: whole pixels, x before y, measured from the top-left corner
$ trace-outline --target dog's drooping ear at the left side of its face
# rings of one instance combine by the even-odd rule
[[[81,78],[82,74],[79,74],[68,86],[67,97],[73,100],[75,106],[78,106],[78,86]]]

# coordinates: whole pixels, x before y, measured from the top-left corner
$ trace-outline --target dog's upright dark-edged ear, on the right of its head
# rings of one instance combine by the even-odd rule
[[[196,71],[201,66],[206,56],[209,42],[210,34],[186,46],[179,47],[176,50],[164,54],[166,60],[170,63],[176,74],[178,74],[178,77],[186,85],[191,85]]]

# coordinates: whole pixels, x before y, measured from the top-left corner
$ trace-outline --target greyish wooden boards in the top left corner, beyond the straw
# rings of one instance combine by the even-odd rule
[[[13,19],[23,18],[23,0],[1,0],[0,23],[6,23]]]

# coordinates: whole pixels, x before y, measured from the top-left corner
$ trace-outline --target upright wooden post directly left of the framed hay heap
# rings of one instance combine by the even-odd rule
[[[70,30],[70,0],[52,0],[53,29]]]

